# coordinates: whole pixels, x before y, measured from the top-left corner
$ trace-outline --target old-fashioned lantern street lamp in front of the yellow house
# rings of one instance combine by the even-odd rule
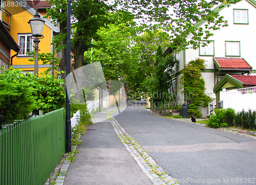
[[[44,38],[42,35],[42,29],[45,25],[45,20],[42,19],[38,13],[38,10],[36,10],[36,13],[33,18],[31,18],[28,22],[31,27],[32,36],[34,36],[34,43],[35,43],[35,67],[34,67],[34,74],[38,76],[38,44],[40,42],[38,37]]]

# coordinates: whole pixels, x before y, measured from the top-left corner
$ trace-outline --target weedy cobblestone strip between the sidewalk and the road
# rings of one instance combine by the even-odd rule
[[[127,133],[123,127],[112,117],[104,122],[111,122],[117,136],[120,138],[122,144],[130,152],[133,158],[138,163],[139,167],[146,174],[148,178],[153,182],[153,184],[178,184],[175,179],[169,176],[160,167],[156,161],[147,154],[145,150],[138,144],[134,138]]]

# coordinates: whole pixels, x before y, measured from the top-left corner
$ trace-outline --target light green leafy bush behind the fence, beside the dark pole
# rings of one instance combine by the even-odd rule
[[[0,75],[0,80],[31,89],[29,96],[36,101],[36,107],[33,107],[34,114],[38,114],[38,110],[46,113],[65,106],[66,93],[61,86],[64,83],[62,79],[55,79],[51,75],[36,77],[29,73],[23,74],[22,71],[10,67]]]

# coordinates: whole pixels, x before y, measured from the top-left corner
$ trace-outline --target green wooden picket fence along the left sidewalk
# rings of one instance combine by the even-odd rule
[[[0,130],[0,184],[44,184],[65,152],[58,109]]]

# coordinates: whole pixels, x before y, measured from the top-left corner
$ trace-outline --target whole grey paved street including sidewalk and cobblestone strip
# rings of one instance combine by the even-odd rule
[[[64,184],[256,183],[256,140],[159,117],[141,101],[118,113],[81,136]]]

